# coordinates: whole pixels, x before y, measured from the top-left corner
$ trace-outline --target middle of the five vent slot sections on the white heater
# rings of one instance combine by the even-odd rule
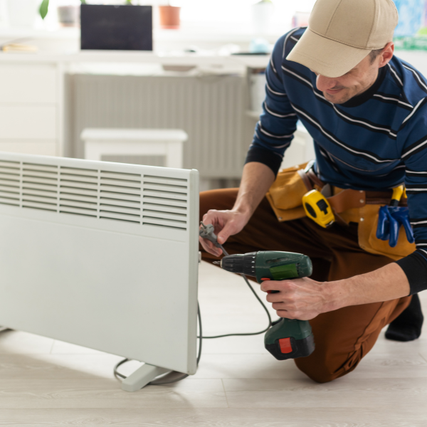
[[[97,217],[98,172],[60,168],[59,212]]]

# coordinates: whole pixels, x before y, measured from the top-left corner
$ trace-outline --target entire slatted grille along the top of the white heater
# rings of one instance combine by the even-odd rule
[[[187,230],[189,181],[0,160],[0,204]]]

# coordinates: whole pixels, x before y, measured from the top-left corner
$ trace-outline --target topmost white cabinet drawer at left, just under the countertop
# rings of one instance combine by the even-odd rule
[[[0,65],[0,102],[57,102],[55,65]]]

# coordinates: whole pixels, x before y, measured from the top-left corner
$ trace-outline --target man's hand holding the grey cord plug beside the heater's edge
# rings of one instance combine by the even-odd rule
[[[216,211],[215,209],[211,209],[204,214],[203,222],[204,224],[212,224],[214,226],[214,233],[218,238],[217,241],[222,245],[227,241],[228,237],[242,231],[243,227],[248,223],[249,218],[251,218],[251,216],[234,210]],[[221,255],[222,250],[214,246],[214,243],[211,241],[201,237],[199,237],[199,241],[206,252],[215,256]]]

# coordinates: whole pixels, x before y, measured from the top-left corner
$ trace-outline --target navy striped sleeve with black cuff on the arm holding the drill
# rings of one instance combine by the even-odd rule
[[[427,98],[424,98],[427,99]],[[416,108],[416,107],[415,107]],[[414,110],[415,110],[414,108]],[[420,102],[416,115],[408,117],[400,132],[405,135],[401,158],[416,252],[397,263],[406,273],[411,294],[427,289],[427,104]]]

